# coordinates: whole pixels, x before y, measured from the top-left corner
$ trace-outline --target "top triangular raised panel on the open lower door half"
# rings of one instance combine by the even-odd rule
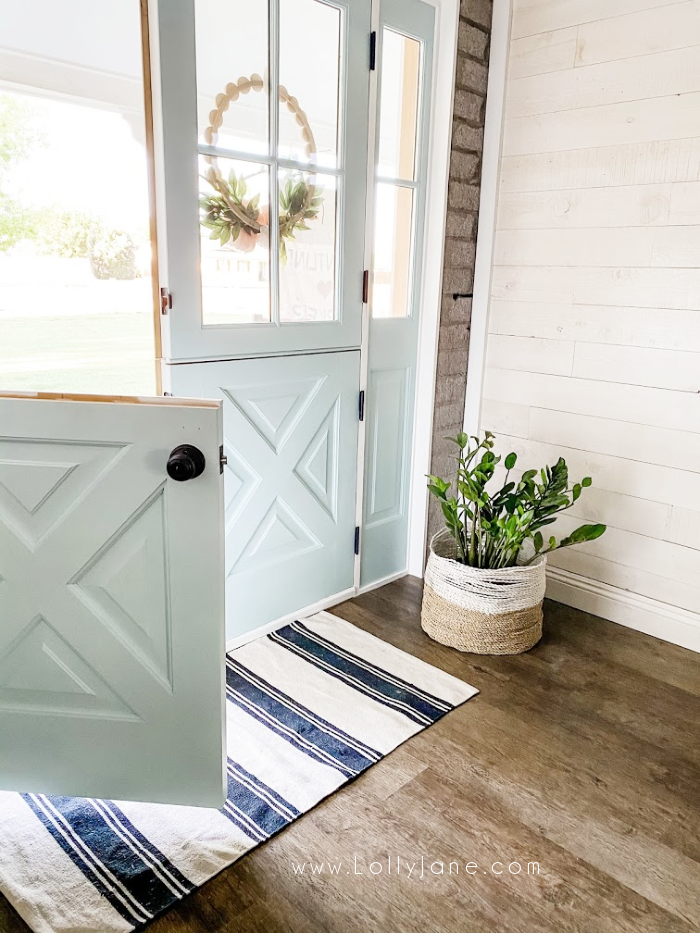
[[[99,483],[127,444],[0,441],[0,521],[30,550]]]

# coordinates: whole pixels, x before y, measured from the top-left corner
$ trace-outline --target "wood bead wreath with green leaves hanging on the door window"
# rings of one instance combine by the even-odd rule
[[[241,94],[262,91],[265,82],[259,74],[239,78],[226,85],[226,90],[217,94],[216,107],[209,114],[209,126],[204,130],[204,141],[215,146],[224,114]],[[306,157],[310,162],[316,156],[316,142],[309,120],[286,87],[280,85],[279,100],[294,114],[301,128]],[[248,185],[244,177],[237,176],[231,169],[225,178],[215,155],[205,155],[209,169],[202,177],[214,189],[214,194],[200,198],[200,223],[211,231],[209,238],[218,240],[222,246],[230,244],[240,252],[249,253],[258,241],[269,240],[270,206],[260,204],[260,195],[247,197]],[[305,177],[304,177],[305,176]],[[287,240],[293,240],[297,230],[309,230],[307,220],[316,220],[323,205],[323,189],[316,184],[315,172],[290,173],[279,192],[279,251],[280,260],[287,260]]]

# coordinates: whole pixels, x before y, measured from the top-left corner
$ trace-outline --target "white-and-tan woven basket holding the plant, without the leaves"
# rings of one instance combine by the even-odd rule
[[[522,654],[542,637],[547,558],[482,570],[456,560],[447,529],[430,542],[421,626],[435,641],[473,654]]]

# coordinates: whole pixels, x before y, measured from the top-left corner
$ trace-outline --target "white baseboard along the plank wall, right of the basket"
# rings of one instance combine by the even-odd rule
[[[547,568],[547,596],[627,628],[700,652],[700,615],[600,583],[560,567]]]

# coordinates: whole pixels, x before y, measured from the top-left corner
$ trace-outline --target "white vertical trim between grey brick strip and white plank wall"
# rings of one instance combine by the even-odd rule
[[[512,0],[495,0],[486,92],[484,154],[479,197],[479,230],[474,264],[474,297],[469,334],[467,393],[464,401],[464,430],[468,434],[478,432],[481,416],[512,11]]]

